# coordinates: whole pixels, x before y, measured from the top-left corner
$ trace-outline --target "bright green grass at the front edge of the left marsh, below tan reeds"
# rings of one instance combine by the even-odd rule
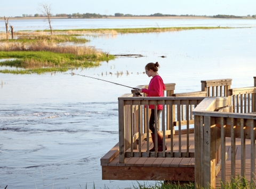
[[[17,68],[17,70],[0,70],[1,73],[13,74],[65,72],[68,69],[98,67],[101,61],[114,59],[113,55],[107,57],[106,54],[101,54],[97,57],[95,54],[75,55],[47,51],[0,51],[0,57],[3,59],[15,59],[0,62],[0,66]]]

